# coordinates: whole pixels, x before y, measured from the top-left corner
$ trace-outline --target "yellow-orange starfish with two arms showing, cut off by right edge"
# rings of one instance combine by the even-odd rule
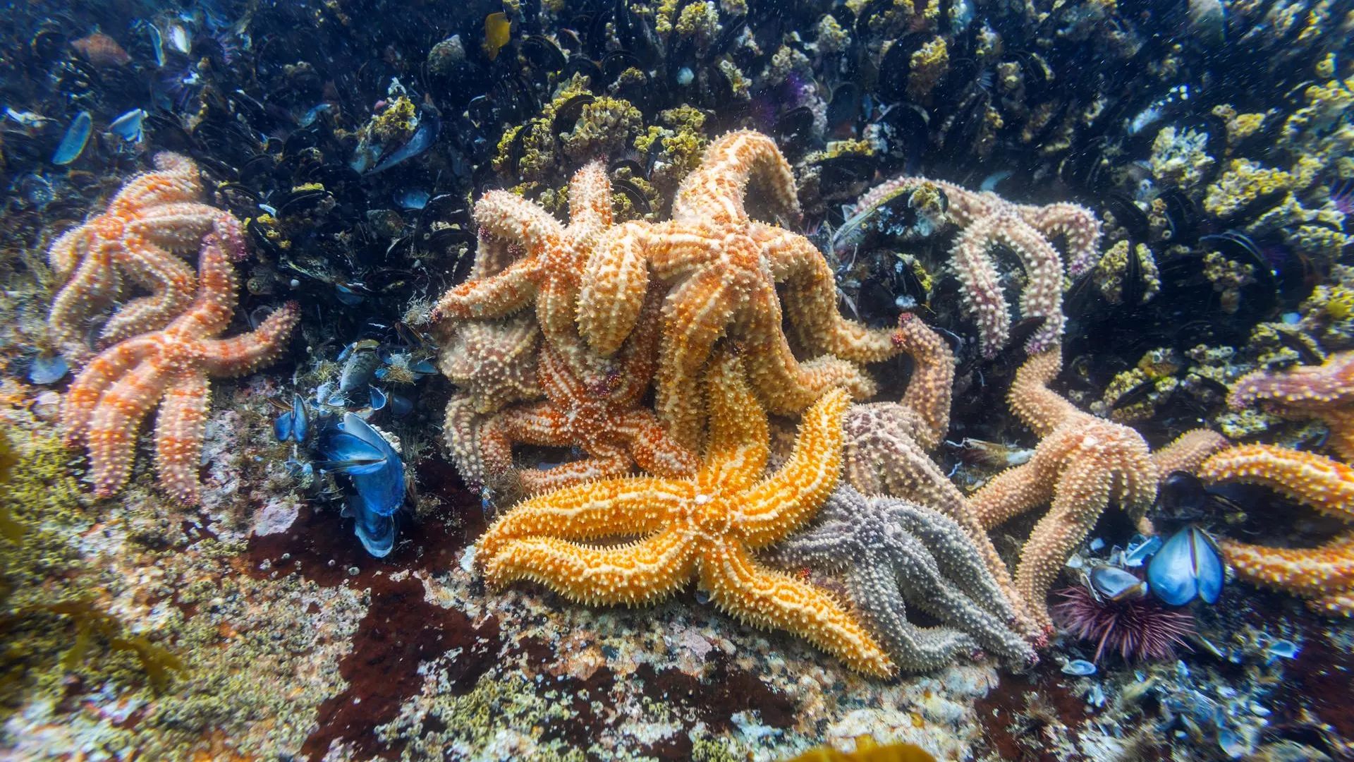
[[[1263,484],[1354,523],[1354,469],[1323,456],[1240,445],[1204,461],[1200,479]],[[1315,611],[1354,616],[1354,530],[1316,548],[1266,548],[1228,538],[1219,545],[1238,578],[1305,598]]]

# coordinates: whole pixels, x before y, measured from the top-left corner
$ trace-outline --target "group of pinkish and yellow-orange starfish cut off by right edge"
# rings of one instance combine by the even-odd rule
[[[1320,366],[1242,377],[1228,403],[1240,409],[1255,401],[1286,418],[1323,420],[1331,430],[1331,450],[1345,461],[1354,456],[1354,351],[1332,353]],[[1354,523],[1354,469],[1324,456],[1240,445],[1204,461],[1200,477],[1263,484]],[[1354,529],[1316,548],[1270,548],[1225,538],[1219,544],[1239,579],[1305,598],[1317,611],[1354,614]]]

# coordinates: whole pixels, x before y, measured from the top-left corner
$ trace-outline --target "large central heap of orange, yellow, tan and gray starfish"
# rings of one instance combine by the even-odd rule
[[[1064,271],[1048,237],[1070,247],[1068,273],[1085,271],[1094,216],[944,184],[972,249],[961,270],[980,294],[984,348],[1009,328],[994,243],[1024,249],[1025,313],[1045,317],[1011,389],[1041,442],[965,498],[929,454],[949,426],[951,348],[913,315],[892,332],[845,320],[822,254],[747,216],[750,182],[796,212],[788,164],[749,132],[711,144],[670,221],[613,225],[600,164],[570,183],[567,225],[501,191],[477,205],[474,277],[436,316],[460,388],[445,427],[458,466],[500,496],[527,495],[477,546],[486,579],[631,605],[696,580],[734,616],[876,675],[978,649],[1032,663],[1051,628],[1048,587],[1099,514],[1114,500],[1140,511],[1164,473],[1221,443],[1196,431],[1152,454],[1133,430],[1048,389],[1062,367]],[[902,399],[852,403],[875,392],[861,365],[896,354],[913,361]],[[802,414],[793,453],[769,473],[768,414]],[[519,445],[581,457],[528,468]],[[1049,502],[1013,579],[987,530]],[[776,563],[841,575],[850,607]],[[910,622],[911,607],[942,626]]]

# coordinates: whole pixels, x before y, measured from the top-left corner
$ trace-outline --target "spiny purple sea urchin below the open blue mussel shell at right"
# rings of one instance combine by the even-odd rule
[[[1110,601],[1098,598],[1085,586],[1059,590],[1063,598],[1053,606],[1059,626],[1078,640],[1095,640],[1094,662],[1105,649],[1118,651],[1128,660],[1169,659],[1175,645],[1194,632],[1194,617],[1183,609],[1167,609],[1151,598]]]

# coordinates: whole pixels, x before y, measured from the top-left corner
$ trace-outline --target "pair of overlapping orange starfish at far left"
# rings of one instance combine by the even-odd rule
[[[156,466],[161,487],[196,503],[198,468],[207,415],[209,378],[252,373],[278,357],[299,319],[291,302],[257,329],[217,338],[234,317],[233,260],[245,255],[240,225],[219,209],[192,201],[200,191],[196,165],[157,155],[158,171],[127,182],[108,210],[51,245],[57,273],[69,281],[51,305],[51,332],[72,359],[88,357],[83,324],[121,292],[121,271],[153,293],[121,305],[104,324],[108,348],[76,376],[61,407],[68,445],[89,452],[95,492],[126,484],[137,433],[146,414],[156,420]],[[175,252],[199,251],[198,273]]]

